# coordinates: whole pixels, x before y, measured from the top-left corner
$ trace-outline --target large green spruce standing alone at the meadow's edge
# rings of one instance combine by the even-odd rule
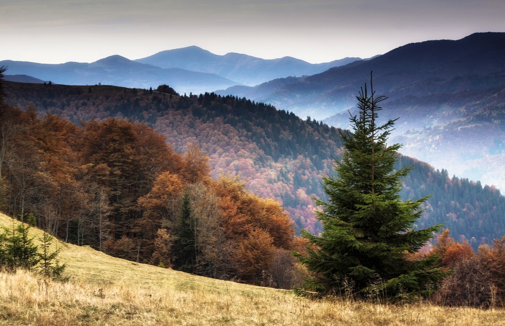
[[[408,259],[433,237],[441,225],[416,230],[427,199],[402,201],[402,180],[411,168],[394,170],[400,144],[386,142],[395,120],[377,125],[379,103],[370,82],[359,92],[359,115],[351,116],[352,133],[341,133],[342,157],[335,159],[336,176],[323,178],[328,200],[316,200],[323,225],[320,235],[302,233],[310,246],[296,254],[314,273],[307,289],[319,295],[372,294],[395,299],[427,296],[444,272],[434,268],[438,256]],[[308,293],[300,291],[300,293]]]

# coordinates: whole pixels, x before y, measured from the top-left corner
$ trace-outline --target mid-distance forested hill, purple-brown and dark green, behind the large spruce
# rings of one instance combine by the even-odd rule
[[[8,103],[22,108],[34,103],[39,113],[73,122],[108,117],[145,122],[179,152],[194,143],[209,155],[214,177],[239,175],[252,192],[282,202],[297,228],[320,231],[310,195],[323,196],[320,175],[330,173],[332,157],[339,156],[335,128],[245,98],[179,96],[169,87],[150,91],[13,82],[5,87]],[[399,163],[415,164],[403,190],[406,198],[433,194],[420,224],[445,223],[453,237],[464,236],[475,245],[503,235],[505,198],[499,191],[450,178],[445,170],[434,171],[408,157]]]

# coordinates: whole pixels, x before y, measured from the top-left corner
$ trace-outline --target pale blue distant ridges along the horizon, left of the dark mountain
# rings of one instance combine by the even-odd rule
[[[135,61],[115,55],[93,63],[55,65],[4,60],[0,66],[7,66],[10,75],[35,78],[32,81],[25,78],[26,82],[39,82],[38,79],[65,85],[104,84],[146,89],[168,84],[181,93],[198,94],[235,85],[256,85],[280,77],[316,74],[359,59],[310,64],[290,57],[265,60],[239,53],[219,56],[189,46]],[[7,76],[6,80],[21,81],[19,78]]]

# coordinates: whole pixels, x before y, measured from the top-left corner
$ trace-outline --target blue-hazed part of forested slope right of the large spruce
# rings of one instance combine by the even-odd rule
[[[422,198],[425,212],[418,227],[443,223],[459,241],[468,241],[477,249],[491,244],[505,233],[504,198],[492,186],[482,186],[479,181],[449,177],[447,170],[434,171],[423,162],[409,157],[399,157],[397,167],[413,165],[401,190],[403,198]]]

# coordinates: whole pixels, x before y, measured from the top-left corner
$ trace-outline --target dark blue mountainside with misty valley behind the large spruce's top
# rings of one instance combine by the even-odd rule
[[[505,33],[411,43],[313,76],[218,94],[348,128],[356,90],[370,88],[372,71],[374,90],[388,96],[382,121],[399,118],[391,140],[406,144],[402,153],[505,189]]]

